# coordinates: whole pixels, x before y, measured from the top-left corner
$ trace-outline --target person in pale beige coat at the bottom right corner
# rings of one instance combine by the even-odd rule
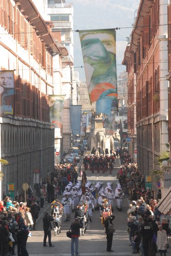
[[[167,252],[167,234],[166,231],[163,229],[162,225],[158,225],[158,233],[157,233],[157,247],[158,252],[160,253],[160,256],[163,255],[166,256]]]

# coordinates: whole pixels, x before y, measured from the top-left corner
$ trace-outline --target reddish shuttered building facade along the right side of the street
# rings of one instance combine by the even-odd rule
[[[167,149],[168,143],[168,2],[140,1],[130,45],[125,52],[128,86],[132,87],[132,94],[128,94],[128,127],[132,132],[136,102],[137,160],[139,170],[145,175],[156,168],[156,157]],[[156,185],[153,186],[156,189]]]

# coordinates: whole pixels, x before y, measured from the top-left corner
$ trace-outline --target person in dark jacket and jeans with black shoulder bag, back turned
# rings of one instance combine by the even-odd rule
[[[71,256],[74,256],[74,243],[75,243],[75,249],[76,249],[76,256],[79,255],[78,253],[78,238],[80,236],[80,229],[82,228],[82,224],[79,222],[78,218],[75,218],[75,221],[71,223],[70,229],[71,229]]]

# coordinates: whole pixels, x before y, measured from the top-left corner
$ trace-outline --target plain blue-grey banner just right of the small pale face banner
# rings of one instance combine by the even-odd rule
[[[70,123],[73,135],[80,135],[81,130],[81,105],[70,105]]]

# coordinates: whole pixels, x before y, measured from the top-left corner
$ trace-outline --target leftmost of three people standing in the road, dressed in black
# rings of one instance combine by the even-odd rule
[[[45,213],[45,216],[43,217],[43,223],[44,223],[44,246],[46,245],[46,239],[48,236],[48,242],[49,247],[54,247],[54,245],[51,243],[51,221],[53,221],[53,217],[49,215],[49,212]]]

